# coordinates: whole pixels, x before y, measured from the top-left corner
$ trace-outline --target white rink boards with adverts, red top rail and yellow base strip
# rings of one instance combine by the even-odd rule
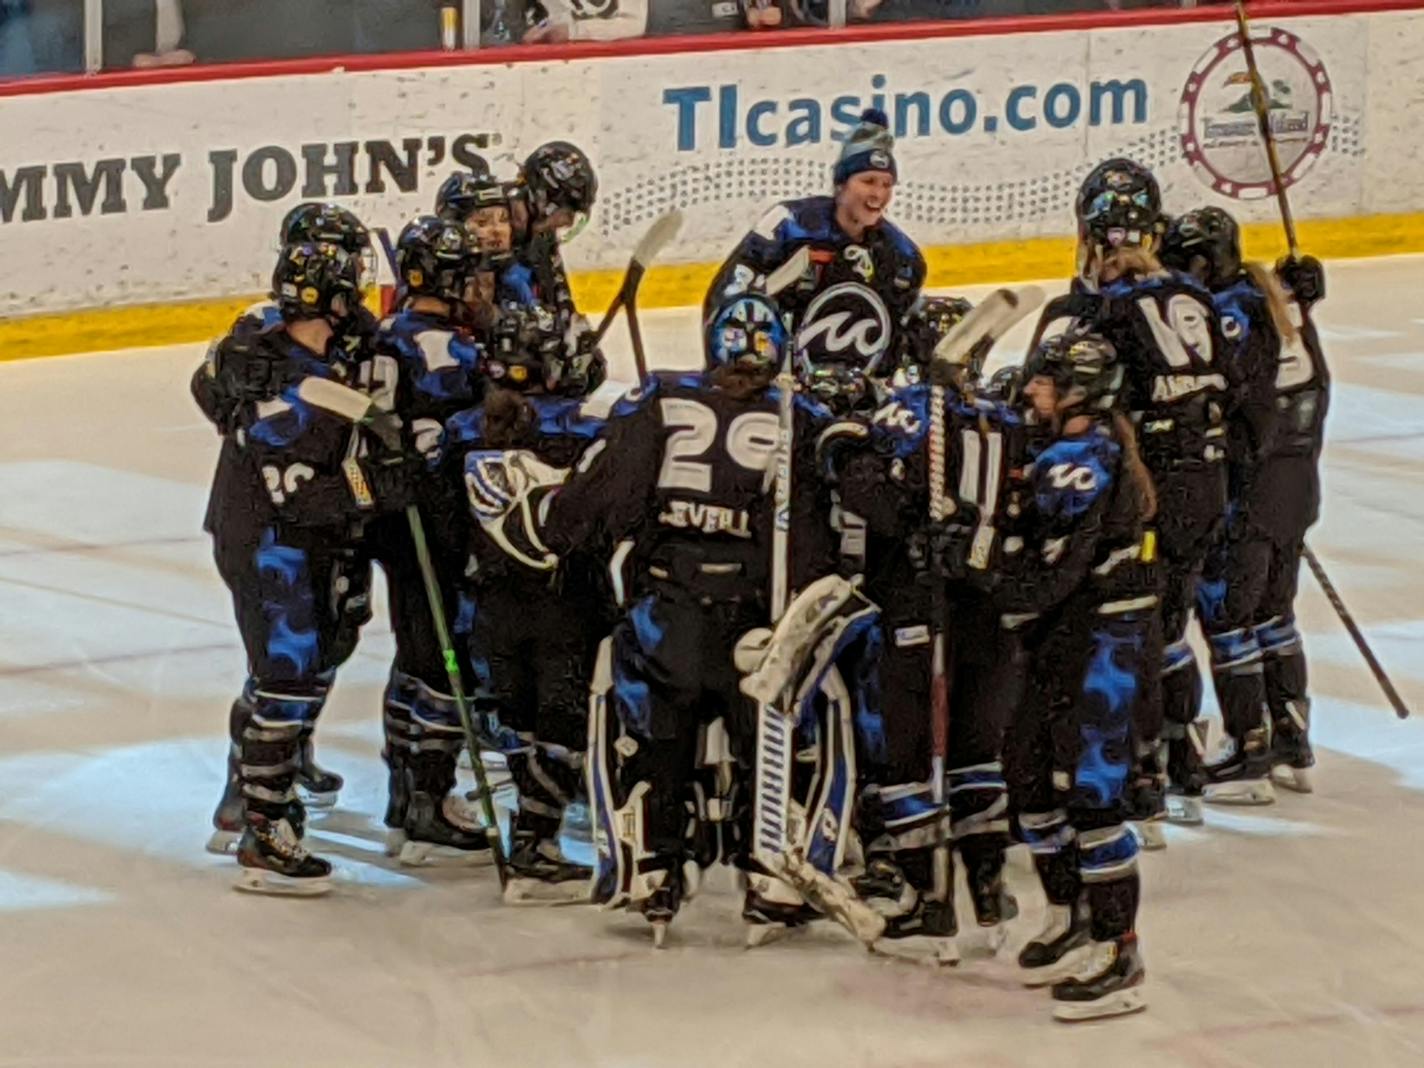
[[[1253,4],[1317,255],[1424,249],[1420,7]],[[216,333],[265,289],[293,204],[330,198],[394,229],[476,154],[511,174],[551,138],[600,174],[567,248],[581,302],[601,305],[648,224],[679,208],[644,302],[695,303],[769,202],[829,189],[864,107],[897,135],[891,214],[931,285],[1067,273],[1072,192],[1115,154],[1151,165],[1169,208],[1227,206],[1249,249],[1274,255],[1233,34],[1229,9],[1200,9],[4,84],[0,316],[19,318],[0,322],[0,359]]]

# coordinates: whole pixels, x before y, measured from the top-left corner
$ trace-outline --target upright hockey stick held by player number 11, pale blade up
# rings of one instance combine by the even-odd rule
[[[930,523],[944,523],[954,514],[954,501],[946,491],[944,383],[951,367],[961,366],[980,346],[987,352],[1017,322],[1044,302],[1044,290],[1024,286],[1020,290],[995,289],[950,329],[930,356]],[[946,803],[944,762],[950,749],[950,669],[944,581],[931,587],[930,595],[930,792],[940,810],[940,833],[934,844],[934,896],[938,901],[953,897],[950,880],[950,815]]]

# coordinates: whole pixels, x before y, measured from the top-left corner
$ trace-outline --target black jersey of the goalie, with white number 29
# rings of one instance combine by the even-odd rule
[[[792,582],[826,570],[829,510],[815,471],[826,413],[796,403],[792,461]],[[655,375],[619,402],[553,498],[544,541],[634,541],[637,581],[648,577],[711,600],[766,595],[772,565],[778,393],[736,396],[715,375]]]

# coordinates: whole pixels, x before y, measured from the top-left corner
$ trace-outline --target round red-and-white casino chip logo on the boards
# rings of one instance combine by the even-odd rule
[[[1314,50],[1287,30],[1255,26],[1250,40],[1266,85],[1282,179],[1289,188],[1326,150],[1334,120],[1330,75]],[[1216,192],[1240,201],[1276,191],[1250,91],[1246,57],[1233,33],[1198,60],[1178,111],[1182,151],[1196,175]]]

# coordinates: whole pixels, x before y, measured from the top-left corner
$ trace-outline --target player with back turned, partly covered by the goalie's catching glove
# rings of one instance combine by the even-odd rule
[[[498,387],[449,420],[443,446],[463,470],[477,515],[491,459],[524,450],[557,478],[602,429],[584,399],[587,383],[568,370],[547,312],[504,309],[486,362]],[[565,807],[582,795],[588,681],[607,632],[597,561],[607,554],[581,547],[560,561],[524,534],[507,515],[476,527],[467,568],[476,699],[498,715],[497,738],[520,795],[504,900],[587,901],[592,871],[564,856],[558,836]]]

